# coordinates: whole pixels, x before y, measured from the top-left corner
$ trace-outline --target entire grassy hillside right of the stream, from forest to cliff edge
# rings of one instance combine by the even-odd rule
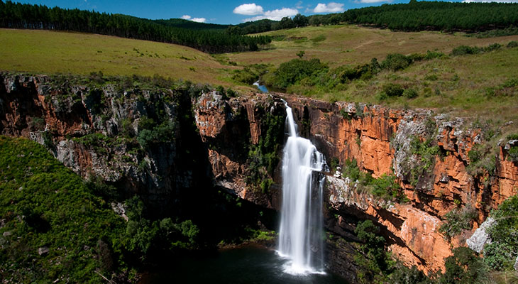
[[[277,38],[272,49],[226,54],[228,60],[240,65],[266,63],[277,67],[298,58],[297,53],[304,50],[302,59],[319,58],[333,70],[337,67],[354,69],[370,63],[373,58],[382,62],[390,53],[426,54],[427,50],[443,53],[439,58],[416,61],[402,70],[382,70],[372,77],[358,77],[338,86],[319,85],[316,81],[329,80],[331,75],[316,75],[310,82],[306,80],[287,87],[285,92],[329,101],[399,108],[431,107],[439,112],[492,120],[492,124],[500,125],[518,119],[518,48],[507,48],[510,41],[518,40],[518,35],[470,38],[463,33],[404,33],[357,26],[294,28],[268,34]],[[474,55],[451,55],[452,50],[461,45],[487,47],[494,43],[502,47]],[[277,71],[275,67],[270,67],[270,75]],[[317,79],[319,76],[324,77]],[[414,97],[380,99],[389,84],[414,89]]]

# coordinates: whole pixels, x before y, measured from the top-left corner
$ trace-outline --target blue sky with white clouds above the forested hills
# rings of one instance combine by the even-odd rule
[[[16,2],[16,0],[14,0]],[[338,13],[348,9],[381,4],[407,3],[408,0],[244,0],[244,1],[209,1],[209,0],[18,0],[26,4],[58,6],[66,9],[94,10],[106,13],[123,13],[139,18],[184,18],[189,21],[204,23],[237,24],[262,18],[280,20],[285,16],[314,15],[319,13]],[[453,0],[462,1],[462,0]],[[482,2],[488,0],[464,0]],[[514,2],[518,0],[497,0]]]

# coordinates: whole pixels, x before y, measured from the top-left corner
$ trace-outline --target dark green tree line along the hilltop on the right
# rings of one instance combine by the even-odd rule
[[[518,4],[416,1],[383,4],[343,13],[285,17],[281,21],[260,20],[230,26],[231,34],[262,33],[304,26],[351,23],[390,28],[396,31],[466,31],[470,33],[518,26]]]

